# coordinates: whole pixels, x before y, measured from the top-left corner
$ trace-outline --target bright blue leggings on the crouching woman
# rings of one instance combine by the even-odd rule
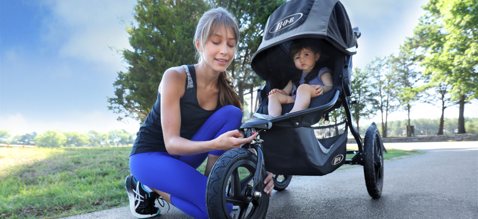
[[[227,105],[209,117],[191,138],[209,141],[239,128],[242,111]],[[206,210],[207,177],[196,168],[208,154],[221,155],[217,150],[188,156],[170,155],[168,152],[147,152],[130,156],[129,167],[133,176],[150,188],[171,194],[171,203],[194,218],[208,218]],[[228,205],[229,211],[232,205]]]

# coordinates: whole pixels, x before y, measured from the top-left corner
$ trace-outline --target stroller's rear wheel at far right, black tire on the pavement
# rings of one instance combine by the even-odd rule
[[[363,145],[365,184],[368,194],[378,199],[383,188],[383,150],[380,133],[375,124],[367,128]]]

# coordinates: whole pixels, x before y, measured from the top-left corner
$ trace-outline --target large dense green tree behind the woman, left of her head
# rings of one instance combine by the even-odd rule
[[[200,16],[208,8],[203,0],[138,0],[135,20],[127,28],[132,50],[120,51],[129,65],[118,72],[109,110],[142,123],[158,95],[162,74],[170,67],[190,64],[196,48],[193,37]]]

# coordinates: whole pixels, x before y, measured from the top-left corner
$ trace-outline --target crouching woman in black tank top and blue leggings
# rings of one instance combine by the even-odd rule
[[[238,41],[234,17],[223,8],[212,9],[200,18],[194,37],[199,63],[163,74],[157,101],[130,154],[132,175],[125,183],[135,217],[158,215],[154,200],[160,196],[194,218],[207,218],[206,183],[213,164],[225,150],[257,136],[243,138],[239,132],[241,104],[225,73]],[[201,174],[196,168],[206,157]],[[264,181],[266,194],[274,187],[272,176]]]

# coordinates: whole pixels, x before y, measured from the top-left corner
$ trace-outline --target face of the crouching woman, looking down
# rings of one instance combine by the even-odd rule
[[[198,45],[198,42],[196,43]],[[199,49],[199,48],[198,48]],[[236,53],[236,38],[230,27],[218,28],[204,45],[202,61],[215,72],[223,72]]]

